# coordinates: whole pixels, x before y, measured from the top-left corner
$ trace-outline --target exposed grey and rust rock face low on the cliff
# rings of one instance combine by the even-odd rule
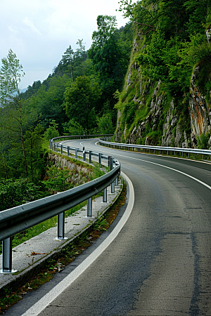
[[[136,52],[143,48],[143,45],[139,45],[139,40],[135,39],[132,55],[135,57]],[[183,100],[179,103],[180,110],[178,110],[178,101],[176,103],[174,99],[167,100],[164,89],[160,88],[162,83],[158,81],[155,86],[150,78],[143,77],[139,65],[134,60],[129,66],[125,91],[129,96],[132,96],[130,100],[134,102],[136,111],[143,109],[143,113],[147,114],[139,121],[134,120],[134,125],[128,124],[128,119],[124,118],[124,128],[122,128],[122,124],[120,124],[122,112],[119,110],[116,141],[120,142],[123,136],[126,143],[144,142],[145,145],[158,145],[159,143],[162,146],[197,147],[201,135],[211,131],[211,110],[207,105],[205,96],[202,96],[200,89],[196,86],[199,73],[200,68],[196,67],[191,78],[191,96],[189,101],[184,101],[186,102],[184,103],[184,107],[186,107],[186,113],[184,114],[182,111],[184,109],[182,108]],[[137,81],[139,81],[139,85]],[[135,88],[133,88],[134,86]],[[134,96],[132,91],[134,91]],[[148,101],[149,98],[151,98],[151,103]],[[184,96],[185,98],[188,98],[188,96]],[[127,117],[129,110],[127,107],[127,111],[124,111],[124,117]],[[160,137],[160,128],[162,128],[162,137]],[[157,136],[157,134],[159,135]],[[211,146],[211,137],[209,144]]]

